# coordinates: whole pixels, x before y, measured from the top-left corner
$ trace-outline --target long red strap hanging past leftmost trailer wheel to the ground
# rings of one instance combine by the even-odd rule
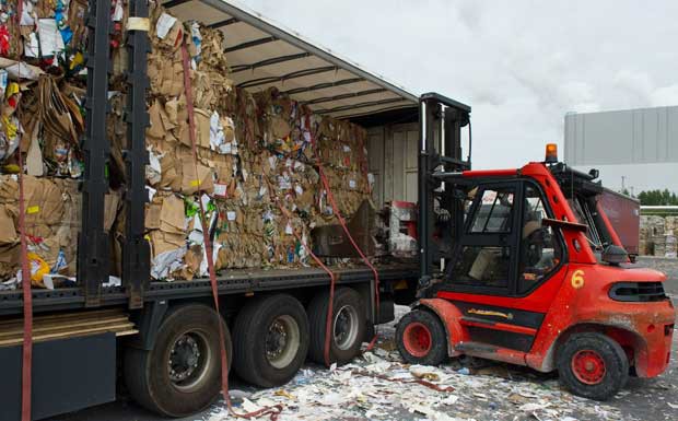
[[[196,121],[195,121],[195,113],[194,113],[194,101],[192,101],[192,89],[190,85],[190,59],[188,57],[188,50],[186,49],[186,39],[184,39],[184,44],[182,45],[182,58],[184,62],[184,91],[186,93],[186,108],[188,112],[188,136],[190,138],[190,144],[194,153],[194,164],[196,166],[196,176],[198,176],[198,148],[196,143]],[[200,183],[200,180],[198,180]],[[202,192],[200,184],[198,184],[198,194]],[[255,417],[269,416],[271,420],[277,420],[278,416],[282,411],[281,405],[276,405],[273,407],[265,407],[259,410],[247,412],[247,413],[237,413],[234,411],[233,406],[231,405],[231,396],[229,395],[229,360],[226,355],[226,348],[224,347],[225,335],[223,330],[223,324],[221,318],[221,313],[219,311],[219,288],[217,284],[217,273],[214,271],[214,259],[212,256],[212,243],[210,241],[209,225],[207,221],[207,217],[204,213],[204,206],[202,204],[202,198],[198,198],[198,203],[200,204],[200,222],[202,224],[202,238],[204,242],[204,253],[207,258],[207,267],[210,274],[210,284],[212,286],[212,299],[214,300],[214,309],[217,311],[217,317],[219,317],[219,344],[220,344],[220,354],[221,354],[221,390],[224,395],[224,399],[226,400],[226,407],[229,412],[237,418],[252,419]]]

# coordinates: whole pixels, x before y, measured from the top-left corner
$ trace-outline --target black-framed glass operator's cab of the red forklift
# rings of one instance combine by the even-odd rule
[[[464,226],[444,258],[444,289],[521,296],[557,272],[564,241],[539,186],[491,178],[455,186],[466,195]]]

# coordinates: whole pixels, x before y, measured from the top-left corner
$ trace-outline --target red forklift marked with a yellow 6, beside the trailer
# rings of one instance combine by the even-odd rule
[[[670,356],[675,311],[662,272],[633,268],[588,174],[546,160],[470,169],[470,108],[420,100],[419,300],[397,327],[412,364],[471,355],[558,371],[605,400]],[[463,157],[464,143],[468,155]]]

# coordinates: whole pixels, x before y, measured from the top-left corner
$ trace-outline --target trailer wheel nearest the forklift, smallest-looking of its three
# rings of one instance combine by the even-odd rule
[[[327,329],[327,305],[329,292],[316,295],[308,305],[311,346],[308,356],[318,364],[325,364],[325,334]],[[332,332],[329,363],[346,364],[360,352],[365,338],[367,320],[360,294],[351,288],[335,291],[332,305]]]

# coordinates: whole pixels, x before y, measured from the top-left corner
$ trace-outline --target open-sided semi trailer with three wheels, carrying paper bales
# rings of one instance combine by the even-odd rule
[[[9,2],[8,7],[23,3]],[[4,367],[0,381],[2,420],[43,419],[74,411],[113,401],[119,390],[165,417],[189,416],[204,409],[219,396],[225,372],[222,361],[247,383],[261,387],[282,385],[294,376],[307,356],[323,364],[351,360],[360,352],[363,341],[373,339],[375,325],[394,318],[396,296],[397,300],[413,296],[413,292],[407,291],[417,284],[416,264],[394,259],[370,264],[371,267],[361,259],[352,265],[343,260],[340,266],[328,262],[327,269],[313,262],[288,269],[227,269],[214,277],[202,274],[191,280],[168,281],[151,276],[145,224],[147,165],[150,165],[145,136],[149,127],[147,101],[150,101],[147,96],[151,62],[149,37],[161,36],[162,28],[156,27],[162,26],[161,23],[168,22],[176,30],[173,35],[183,34],[185,30],[174,16],[183,22],[199,22],[200,27],[208,28],[206,31],[222,31],[225,45],[202,47],[203,51],[222,48],[227,55],[230,89],[247,93],[276,89],[294,101],[300,109],[303,104],[304,109],[331,117],[332,121],[350,120],[373,131],[388,132],[381,138],[386,151],[394,150],[396,125],[417,121],[414,95],[254,12],[219,0],[157,3],[162,3],[166,15],[159,19],[160,23],[153,22],[152,33],[147,0],[129,1],[129,8],[121,12],[125,20],[118,23],[114,20],[122,2],[70,2],[72,14],[68,19],[63,9],[57,10],[65,20],[61,22],[62,26],[66,24],[63,31],[72,31],[71,43],[89,32],[87,50],[80,58],[74,52],[66,57],[75,67],[73,71],[82,69],[82,78],[86,74],[85,101],[80,104],[84,116],[81,121],[84,136],[80,139],[84,152],[83,172],[79,176],[82,212],[75,221],[80,226],[79,238],[72,238],[78,242],[78,272],[68,282],[55,282],[47,289],[45,279],[40,279],[43,288],[31,288],[27,276],[22,278],[19,288],[3,284],[0,291],[0,362]],[[63,4],[55,7],[63,8]],[[112,14],[112,10],[116,13]],[[34,12],[35,9],[28,10],[28,16]],[[42,9],[38,12],[51,13]],[[13,14],[16,15],[22,13]],[[45,25],[50,23],[47,21]],[[75,22],[81,24],[77,26]],[[122,25],[125,38],[121,37]],[[189,47],[196,48],[196,38],[182,38],[177,36],[178,43],[190,43]],[[10,42],[16,46],[21,39],[11,38]],[[167,48],[174,48],[172,40],[168,45]],[[83,63],[78,65],[79,60]],[[116,95],[109,92],[109,85],[119,60],[126,61],[124,82],[128,102],[122,110],[124,126],[117,130],[127,132],[128,144],[120,156],[127,177],[122,198],[126,211],[121,212],[125,218],[121,268],[119,277],[113,277],[114,234],[105,229],[104,220],[108,203],[105,197],[115,175],[112,169],[115,150],[110,132],[107,132],[107,113],[113,109]],[[4,66],[5,61],[2,63]],[[49,72],[51,61],[39,65]],[[56,60],[54,65],[57,67]],[[37,66],[21,63],[19,67],[31,69],[33,77],[45,73]],[[21,70],[13,78],[23,83],[26,79],[22,78],[32,74]],[[189,72],[190,68],[184,68],[183,74]],[[43,80],[48,78],[43,74]],[[190,80],[178,78],[174,82],[178,86],[176,97],[194,100],[187,90],[192,83]],[[214,90],[222,87],[214,86]],[[57,93],[51,98],[55,96]],[[48,108],[45,107],[45,113]],[[30,108],[23,112],[31,113]],[[80,115],[80,110],[71,115]],[[33,119],[42,116],[44,114],[36,114]],[[154,124],[152,129],[159,127]],[[308,126],[305,132],[311,132]],[[246,147],[243,143],[241,148]],[[24,157],[21,153],[19,156]],[[190,155],[187,156],[190,160]],[[373,161],[364,164],[370,169],[378,168],[374,172],[377,204],[404,198],[400,185],[395,182],[397,176],[394,176],[404,168],[401,162],[386,161],[384,154],[373,156]],[[283,159],[280,161],[284,164]],[[34,163],[28,162],[26,167],[35,168]],[[24,169],[21,161],[19,164],[13,175],[4,175],[8,187],[16,186],[17,173]],[[39,160],[37,164],[38,169],[43,167]],[[177,165],[182,164],[186,163]],[[78,165],[71,169],[77,171]],[[3,166],[2,171],[9,169]],[[194,186],[195,180],[189,182],[188,187],[201,183],[197,180]],[[21,186],[21,182],[19,184]],[[19,200],[19,209],[25,204],[23,202]],[[183,207],[182,200],[178,203]],[[276,203],[278,201],[271,201],[272,206]],[[28,206],[19,213],[31,220],[42,211],[44,209],[37,206]],[[17,227],[23,225],[25,231],[26,220],[20,221]],[[208,225],[204,219],[196,222],[199,223]],[[355,224],[351,220],[348,227],[353,230]],[[348,234],[342,230],[335,232],[331,225],[324,227],[329,229],[327,244],[330,246],[347,241]],[[358,231],[361,229],[369,232],[366,225],[358,224]],[[206,233],[206,243],[212,243],[217,234],[211,225]],[[294,232],[290,230],[287,234],[291,237]],[[364,233],[354,235],[361,247],[363,239],[371,241]],[[35,238],[31,241],[35,243]],[[318,244],[323,242],[315,242],[314,246]],[[19,246],[13,243],[3,247],[15,249]],[[312,247],[304,248],[309,252]],[[355,257],[353,247],[349,249],[348,257]],[[290,253],[291,260],[296,259],[294,254],[299,255],[299,250]],[[204,255],[211,256],[211,253],[206,250]],[[335,253],[330,259],[341,257]],[[27,260],[25,250],[22,259]],[[206,260],[211,266],[209,258]],[[39,269],[44,261],[36,265]],[[33,278],[32,267],[25,271],[28,272]],[[22,281],[27,282],[22,285]],[[330,304],[334,312],[327,317]],[[331,340],[326,353],[328,331]]]

